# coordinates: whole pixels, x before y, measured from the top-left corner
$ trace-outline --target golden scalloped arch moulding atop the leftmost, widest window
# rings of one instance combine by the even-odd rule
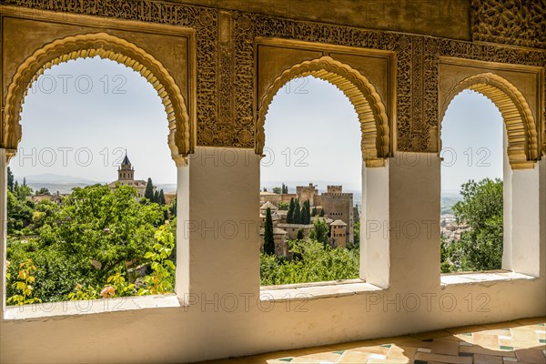
[[[190,117],[180,88],[167,69],[142,48],[106,33],[71,35],[44,45],[17,67],[5,96],[2,147],[16,150],[22,136],[20,113],[26,93],[45,69],[72,59],[99,56],[128,66],[156,89],[165,107],[169,127],[168,146],[175,162],[194,150]]]

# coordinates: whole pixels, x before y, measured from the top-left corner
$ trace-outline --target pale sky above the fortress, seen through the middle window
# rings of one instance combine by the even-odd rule
[[[298,78],[278,91],[266,117],[265,147],[262,185],[313,182],[324,190],[328,181],[349,189],[361,186],[357,113],[326,81]]]

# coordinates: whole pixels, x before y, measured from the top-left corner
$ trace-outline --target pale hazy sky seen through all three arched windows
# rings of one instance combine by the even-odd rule
[[[78,59],[46,70],[25,97],[21,124],[23,139],[10,163],[15,177],[112,181],[127,149],[136,178],[176,181],[156,91],[116,62]],[[484,96],[465,91],[455,97],[442,139],[443,190],[458,190],[470,178],[501,177],[501,114]],[[311,76],[292,80],[274,97],[265,154],[262,186],[313,182],[320,190],[327,183],[358,190],[361,184],[356,112],[338,88]]]

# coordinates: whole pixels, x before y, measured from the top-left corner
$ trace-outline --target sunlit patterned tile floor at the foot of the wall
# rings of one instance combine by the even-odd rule
[[[546,318],[521,319],[207,363],[546,364],[545,322]]]

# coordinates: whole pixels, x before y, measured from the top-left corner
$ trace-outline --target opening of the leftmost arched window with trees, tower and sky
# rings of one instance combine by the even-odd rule
[[[165,224],[175,215],[141,204],[135,188],[113,183],[127,151],[137,176],[166,184],[165,192],[176,190],[161,101],[146,78],[99,56],[35,77],[9,164],[8,305],[174,291],[174,266],[167,268],[167,289],[150,284],[147,253],[154,252],[158,229],[173,233]],[[58,191],[59,206],[35,200],[38,190]],[[21,269],[34,277],[23,298],[16,284]]]

